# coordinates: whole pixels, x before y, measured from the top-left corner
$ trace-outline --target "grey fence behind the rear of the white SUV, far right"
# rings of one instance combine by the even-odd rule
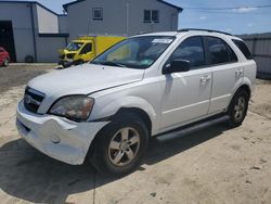
[[[240,36],[247,44],[258,66],[257,76],[271,79],[271,33]]]

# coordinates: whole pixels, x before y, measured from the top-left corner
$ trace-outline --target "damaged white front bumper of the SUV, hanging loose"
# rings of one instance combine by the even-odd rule
[[[53,115],[28,112],[21,101],[16,112],[20,135],[34,148],[50,157],[72,165],[80,165],[95,135],[108,124],[75,123]]]

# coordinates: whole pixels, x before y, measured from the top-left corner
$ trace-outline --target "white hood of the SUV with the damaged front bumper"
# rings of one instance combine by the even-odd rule
[[[28,87],[47,97],[60,98],[68,94],[89,94],[139,81],[143,75],[143,69],[83,64],[36,77],[28,82]]]

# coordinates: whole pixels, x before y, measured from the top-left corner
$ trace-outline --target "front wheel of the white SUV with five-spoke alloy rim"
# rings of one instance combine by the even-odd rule
[[[115,177],[140,165],[150,138],[142,119],[127,113],[116,116],[96,137],[91,163],[101,174]]]

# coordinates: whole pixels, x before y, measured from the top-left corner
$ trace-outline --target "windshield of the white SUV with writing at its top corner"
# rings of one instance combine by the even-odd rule
[[[169,36],[143,36],[124,40],[101,55],[91,64],[129,68],[150,67],[175,40]]]

